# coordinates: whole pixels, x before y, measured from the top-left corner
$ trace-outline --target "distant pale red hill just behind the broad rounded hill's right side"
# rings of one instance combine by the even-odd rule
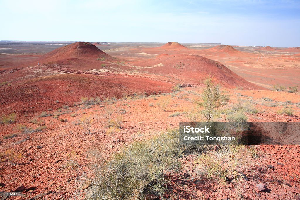
[[[210,49],[200,50],[199,52],[205,55],[216,56],[253,56],[251,53],[238,51],[230,45],[218,45]]]

